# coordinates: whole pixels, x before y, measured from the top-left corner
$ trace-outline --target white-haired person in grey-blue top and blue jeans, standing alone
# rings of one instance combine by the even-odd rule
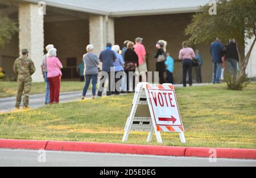
[[[90,82],[92,81],[92,94],[93,99],[96,98],[96,85],[98,82],[98,65],[100,61],[96,54],[93,53],[93,45],[86,46],[87,53],[84,54],[83,61],[85,65],[85,86],[82,91],[82,100],[84,100]]]

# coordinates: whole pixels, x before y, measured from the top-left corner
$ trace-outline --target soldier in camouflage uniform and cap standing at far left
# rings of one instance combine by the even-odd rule
[[[14,62],[14,73],[18,74],[18,94],[16,97],[16,109],[20,108],[20,103],[23,96],[23,108],[28,108],[29,94],[31,90],[31,75],[35,73],[35,65],[32,60],[28,58],[28,50],[22,49],[22,57],[16,59]]]

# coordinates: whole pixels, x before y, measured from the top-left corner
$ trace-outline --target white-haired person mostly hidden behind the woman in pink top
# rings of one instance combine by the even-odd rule
[[[50,49],[54,48],[54,45],[49,44],[46,46],[46,51],[47,53],[49,52]],[[42,69],[42,73],[43,73],[43,77],[44,77],[44,81],[46,82],[46,101],[45,104],[49,104],[50,103],[50,98],[49,98],[49,82],[47,79],[47,65],[46,65],[46,59],[47,59],[47,54],[44,54],[43,56],[43,60],[42,60],[42,65],[41,65],[41,69]]]

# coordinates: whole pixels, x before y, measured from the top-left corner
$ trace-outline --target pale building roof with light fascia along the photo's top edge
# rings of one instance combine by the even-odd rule
[[[23,0],[38,3],[38,0]],[[109,16],[137,16],[196,12],[210,0],[44,0],[46,5]]]

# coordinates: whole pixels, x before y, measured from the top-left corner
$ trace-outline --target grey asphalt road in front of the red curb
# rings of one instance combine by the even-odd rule
[[[45,156],[44,156],[45,155]],[[46,158],[46,159],[44,159]],[[39,162],[40,160],[40,162]],[[46,162],[44,162],[46,160]],[[185,158],[172,156],[98,154],[89,152],[61,152],[36,150],[0,149],[1,167],[177,167],[218,166],[255,167],[256,160],[217,159],[210,163],[208,158]]]

